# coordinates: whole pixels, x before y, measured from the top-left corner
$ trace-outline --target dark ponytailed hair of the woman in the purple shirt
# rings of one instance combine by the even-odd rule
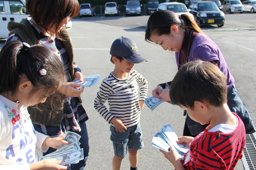
[[[191,18],[191,16],[187,14],[179,15],[169,11],[169,10],[160,10],[156,11],[149,16],[146,33],[145,33],[145,40],[150,43],[153,42],[150,39],[151,33],[155,32],[158,36],[162,35],[169,35],[171,33],[171,26],[177,25],[182,30],[185,27],[189,27],[193,29],[195,32],[199,32],[204,34],[201,28],[197,25],[195,20]],[[182,21],[181,21],[182,20]]]

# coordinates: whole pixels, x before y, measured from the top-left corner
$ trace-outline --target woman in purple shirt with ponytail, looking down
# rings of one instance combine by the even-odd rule
[[[178,69],[183,64],[195,60],[208,61],[217,65],[227,76],[228,106],[231,112],[241,117],[246,133],[255,132],[250,113],[238,96],[234,77],[219,47],[205,36],[193,18],[186,14],[177,15],[172,11],[157,11],[148,19],[145,40],[160,45],[164,50],[174,51]],[[171,81],[168,83],[171,84]],[[170,101],[169,89],[164,88],[165,83],[159,84],[152,91],[152,95],[162,98],[162,101]],[[183,135],[195,137],[206,126],[191,120],[187,115]]]

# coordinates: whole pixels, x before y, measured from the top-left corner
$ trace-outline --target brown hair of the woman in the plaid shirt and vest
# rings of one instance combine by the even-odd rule
[[[56,33],[60,38],[58,29],[62,26],[63,19],[77,16],[80,7],[77,0],[26,0],[26,9],[36,24],[50,35]]]

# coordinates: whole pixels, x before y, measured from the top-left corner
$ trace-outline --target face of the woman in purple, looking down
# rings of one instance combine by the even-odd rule
[[[164,50],[169,50],[172,52],[179,52],[183,42],[183,33],[177,30],[172,30],[169,35],[157,35],[155,31],[151,33],[150,39],[153,40],[155,44],[161,46]]]

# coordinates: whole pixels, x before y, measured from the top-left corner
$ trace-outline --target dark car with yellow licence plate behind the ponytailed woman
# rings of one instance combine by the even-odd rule
[[[194,15],[197,24],[222,27],[225,23],[225,14],[211,1],[196,1],[189,5],[188,11]]]

